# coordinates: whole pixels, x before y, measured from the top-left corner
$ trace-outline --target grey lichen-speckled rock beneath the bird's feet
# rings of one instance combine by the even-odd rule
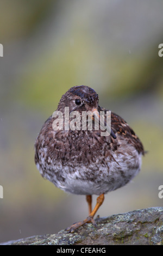
[[[97,218],[97,229],[85,224],[73,234],[65,230],[1,245],[163,245],[163,207]]]

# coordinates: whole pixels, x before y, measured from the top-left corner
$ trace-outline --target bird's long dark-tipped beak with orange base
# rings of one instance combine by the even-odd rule
[[[116,139],[116,135],[115,133],[111,130],[111,125],[107,124],[106,121],[104,120],[104,115],[100,115],[97,108],[94,108],[92,111],[91,111],[92,115],[92,119],[93,120],[96,120],[98,122],[98,124],[100,125],[100,128],[101,130],[106,130],[108,133],[107,136],[111,135],[112,138]],[[111,121],[110,121],[110,124],[111,124]]]

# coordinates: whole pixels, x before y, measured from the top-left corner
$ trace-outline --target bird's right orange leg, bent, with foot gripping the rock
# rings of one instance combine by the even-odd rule
[[[90,222],[95,227],[97,227],[96,222],[93,220],[93,217],[95,216],[97,210],[99,209],[99,207],[102,205],[103,202],[104,202],[104,194],[101,194],[99,197],[97,197],[96,206],[93,209],[93,211],[90,213],[90,215],[84,221],[74,223],[74,224],[71,225],[71,227],[67,228],[66,230],[69,231],[69,233],[73,233],[74,230],[76,230],[77,228],[81,227],[85,223],[90,223]]]

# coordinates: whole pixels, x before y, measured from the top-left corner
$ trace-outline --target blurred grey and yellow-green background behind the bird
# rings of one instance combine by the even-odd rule
[[[83,220],[85,196],[44,180],[34,142],[62,94],[87,85],[121,115],[148,154],[98,214],[163,206],[162,0],[1,0],[0,242],[53,234]],[[96,196],[93,196],[93,206]]]

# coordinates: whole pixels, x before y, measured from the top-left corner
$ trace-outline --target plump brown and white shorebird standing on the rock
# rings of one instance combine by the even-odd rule
[[[128,123],[98,102],[99,96],[91,87],[73,86],[61,96],[57,110],[35,140],[35,164],[42,177],[67,193],[86,197],[89,215],[68,227],[69,233],[86,223],[97,228],[94,217],[105,194],[128,184],[139,173],[145,155],[142,142]],[[83,113],[87,113],[84,127]],[[96,129],[99,120],[103,124]],[[102,136],[104,129],[108,133]],[[92,195],[97,196],[93,210]]]

